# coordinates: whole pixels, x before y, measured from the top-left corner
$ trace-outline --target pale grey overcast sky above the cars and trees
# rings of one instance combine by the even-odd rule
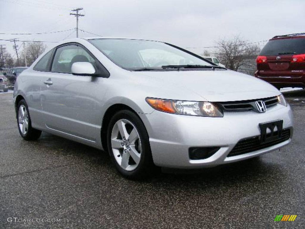
[[[76,27],[70,9],[83,7],[79,28],[102,36],[156,39],[201,53],[234,35],[258,42],[305,32],[305,0],[0,0],[0,33],[36,33]],[[1,35],[0,39],[61,41],[47,35]],[[93,35],[80,32],[80,37]],[[0,41],[13,54],[12,42]],[[50,44],[50,43],[46,43]],[[21,42],[19,42],[21,45]],[[264,45],[264,43],[261,43]]]

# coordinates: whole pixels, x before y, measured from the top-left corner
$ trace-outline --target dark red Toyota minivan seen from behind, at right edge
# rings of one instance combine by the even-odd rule
[[[277,87],[305,88],[305,33],[275,36],[257,56],[255,77]]]

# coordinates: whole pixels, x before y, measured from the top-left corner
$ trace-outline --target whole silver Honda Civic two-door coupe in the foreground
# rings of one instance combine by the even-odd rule
[[[25,140],[45,131],[108,151],[130,179],[259,156],[293,131],[272,85],[150,40],[63,41],[18,76],[13,97]]]

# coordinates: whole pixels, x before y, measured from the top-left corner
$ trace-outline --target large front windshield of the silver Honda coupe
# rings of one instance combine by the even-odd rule
[[[92,39],[89,42],[115,64],[127,70],[161,69],[167,65],[213,66],[163,42],[133,39]]]

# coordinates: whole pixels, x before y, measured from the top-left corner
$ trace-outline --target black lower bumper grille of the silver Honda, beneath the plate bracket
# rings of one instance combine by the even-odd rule
[[[274,146],[276,144],[279,144],[281,142],[287,141],[290,138],[290,129],[283,129],[282,135],[280,138],[275,139],[273,141],[260,144],[259,136],[246,138],[243,140],[240,140],[235,147],[231,150],[231,152],[228,154],[228,157],[240,155],[240,154],[246,154],[253,151],[261,150],[270,146]]]

